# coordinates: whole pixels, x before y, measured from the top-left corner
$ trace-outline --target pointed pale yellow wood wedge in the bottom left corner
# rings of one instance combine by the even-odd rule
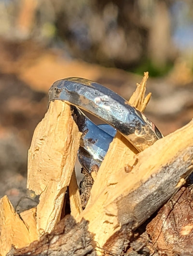
[[[28,227],[15,212],[8,197],[3,196],[0,199],[0,256],[5,256],[12,244],[21,248],[32,241]]]

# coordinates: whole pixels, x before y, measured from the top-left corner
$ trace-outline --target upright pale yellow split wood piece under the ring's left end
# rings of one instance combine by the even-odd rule
[[[37,206],[39,236],[54,230],[60,220],[80,137],[81,132],[71,116],[70,106],[60,100],[51,102],[34,131],[28,152],[27,187],[40,194]]]

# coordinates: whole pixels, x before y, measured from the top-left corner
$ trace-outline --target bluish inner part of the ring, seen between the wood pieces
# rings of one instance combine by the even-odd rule
[[[107,124],[96,126],[75,106],[71,106],[71,112],[79,130],[83,133],[78,151],[79,161],[84,168],[92,172],[93,166],[95,169],[100,167],[116,130]]]

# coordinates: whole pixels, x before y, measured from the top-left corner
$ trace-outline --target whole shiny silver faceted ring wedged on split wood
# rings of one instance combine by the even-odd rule
[[[48,98],[49,102],[63,100],[71,105],[73,117],[83,132],[79,160],[89,171],[95,165],[100,166],[116,130],[139,152],[163,138],[162,133],[144,114],[123,97],[94,81],[76,77],[55,81],[50,87]],[[96,115],[113,128],[109,125],[96,126],[80,109]]]

